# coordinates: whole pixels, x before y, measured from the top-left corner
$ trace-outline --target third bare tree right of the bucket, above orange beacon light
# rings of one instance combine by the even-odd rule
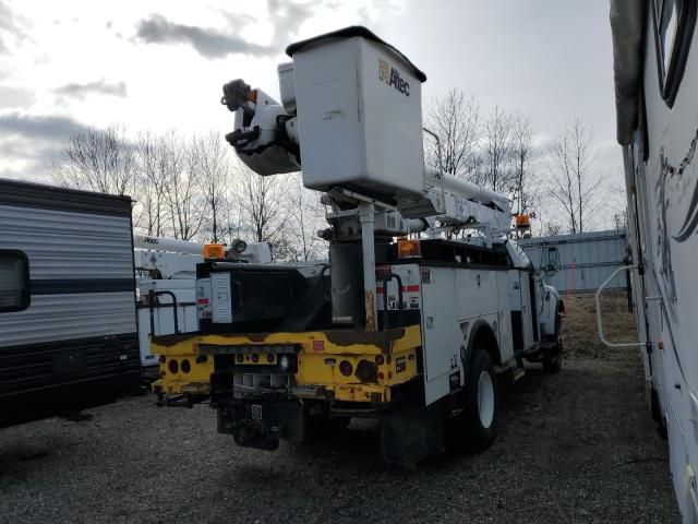
[[[530,118],[516,114],[512,119],[512,164],[514,199],[519,213],[530,211],[538,196],[532,158],[533,129]]]

